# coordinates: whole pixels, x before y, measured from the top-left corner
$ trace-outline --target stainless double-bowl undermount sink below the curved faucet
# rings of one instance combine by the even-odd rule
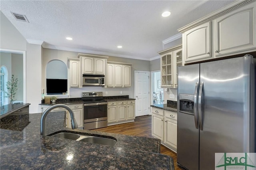
[[[60,132],[57,134],[51,135],[53,137],[65,138],[71,140],[77,140],[82,142],[89,142],[94,144],[103,144],[107,146],[114,146],[116,144],[116,140],[111,138],[104,138],[98,136],[87,136],[82,134],[70,133],[70,132]]]

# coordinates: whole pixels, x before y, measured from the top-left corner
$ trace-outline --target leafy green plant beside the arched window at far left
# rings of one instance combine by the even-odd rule
[[[15,100],[16,91],[18,89],[18,79],[14,78],[14,75],[12,75],[12,78],[10,81],[7,81],[6,88],[8,92],[5,92],[7,96],[10,99],[10,103],[12,103]]]

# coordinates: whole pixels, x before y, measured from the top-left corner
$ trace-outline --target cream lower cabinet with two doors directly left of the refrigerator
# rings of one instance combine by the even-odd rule
[[[177,152],[177,113],[151,107],[152,136],[161,144]]]

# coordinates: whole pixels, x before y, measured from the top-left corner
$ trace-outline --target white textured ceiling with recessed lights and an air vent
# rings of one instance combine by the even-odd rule
[[[44,47],[151,60],[163,49],[162,41],[179,28],[231,2],[1,0],[0,10],[24,38],[44,41]],[[171,15],[163,18],[167,10]],[[29,23],[17,21],[10,12],[25,14]]]

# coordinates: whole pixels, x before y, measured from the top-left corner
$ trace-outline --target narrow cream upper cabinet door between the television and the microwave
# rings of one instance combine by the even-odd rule
[[[79,87],[80,83],[80,61],[69,61],[70,87]]]

